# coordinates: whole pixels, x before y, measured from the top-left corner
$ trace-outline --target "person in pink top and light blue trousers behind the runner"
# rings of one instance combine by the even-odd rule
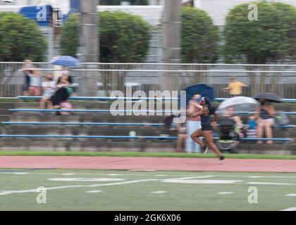
[[[202,128],[200,116],[196,115],[202,110],[202,106],[199,104],[200,94],[195,94],[189,102],[187,110],[187,141],[186,141],[186,152],[187,153],[200,153],[201,147],[191,139],[191,135],[197,130]]]

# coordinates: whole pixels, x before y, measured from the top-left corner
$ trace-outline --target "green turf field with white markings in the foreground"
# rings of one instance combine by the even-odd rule
[[[0,210],[296,210],[296,174],[0,169],[0,181]]]

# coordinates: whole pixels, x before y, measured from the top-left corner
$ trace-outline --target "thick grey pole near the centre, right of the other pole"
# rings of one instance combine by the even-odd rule
[[[163,63],[180,63],[181,58],[181,0],[164,0]],[[169,70],[169,66],[164,67]],[[163,89],[178,91],[178,74],[166,72]]]

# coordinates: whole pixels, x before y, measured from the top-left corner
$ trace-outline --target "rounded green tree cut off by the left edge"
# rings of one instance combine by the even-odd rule
[[[0,13],[0,60],[42,61],[47,41],[36,23],[18,13]]]

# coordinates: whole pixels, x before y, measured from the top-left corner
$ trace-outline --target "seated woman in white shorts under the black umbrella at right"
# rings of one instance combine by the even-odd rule
[[[263,137],[263,132],[265,130],[267,139],[273,138],[272,127],[275,124],[274,116],[275,116],[275,108],[269,101],[264,99],[259,99],[259,107],[257,108],[256,117],[258,123],[258,138],[261,139]],[[258,141],[257,143],[261,144],[263,141]],[[273,141],[267,141],[268,144],[273,144]]]

